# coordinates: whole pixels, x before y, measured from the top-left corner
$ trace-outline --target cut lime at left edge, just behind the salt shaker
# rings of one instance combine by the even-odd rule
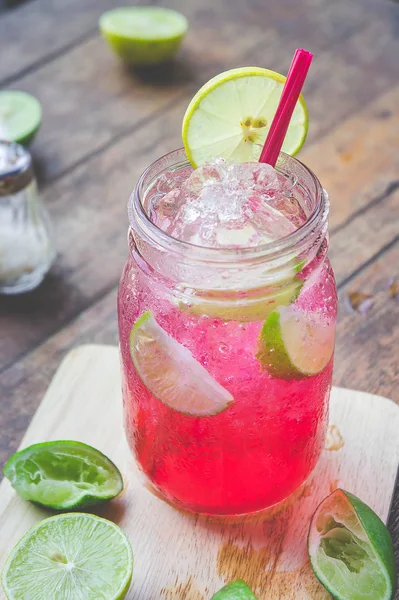
[[[36,98],[25,92],[0,91],[0,139],[27,146],[41,121],[42,108]]]

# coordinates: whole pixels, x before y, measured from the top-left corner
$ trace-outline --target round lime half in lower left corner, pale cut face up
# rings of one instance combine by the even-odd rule
[[[8,600],[119,600],[133,552],[123,531],[83,513],[41,521],[12,550],[2,573]]]

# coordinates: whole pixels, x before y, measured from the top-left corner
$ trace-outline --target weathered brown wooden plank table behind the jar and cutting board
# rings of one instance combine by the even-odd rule
[[[181,145],[189,99],[232,67],[285,73],[296,47],[315,54],[300,158],[331,198],[340,300],[334,383],[399,403],[399,4],[154,3],[180,9],[191,29],[175,62],[147,73],[123,68],[98,34],[112,0],[33,0],[0,15],[0,86],[31,92],[43,105],[32,152],[58,247],[38,290],[0,298],[1,461],[17,448],[66,352],[117,343],[127,198],[146,166]]]

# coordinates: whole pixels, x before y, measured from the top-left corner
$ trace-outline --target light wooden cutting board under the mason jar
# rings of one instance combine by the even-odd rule
[[[185,514],[143,485],[122,429],[114,347],[82,346],[66,357],[21,447],[76,439],[99,448],[119,466],[126,491],[95,512],[118,523],[132,543],[129,600],[209,600],[236,578],[247,581],[260,600],[323,600],[330,596],[314,578],[306,555],[312,512],[330,491],[343,487],[386,521],[399,463],[399,408],[393,402],[334,388],[330,413],[330,450],[295,500],[284,510],[245,519]],[[20,500],[3,481],[0,566],[18,539],[48,515]]]

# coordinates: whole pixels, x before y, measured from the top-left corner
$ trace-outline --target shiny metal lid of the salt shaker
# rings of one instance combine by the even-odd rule
[[[0,140],[0,197],[20,192],[33,179],[29,152],[20,144]]]

